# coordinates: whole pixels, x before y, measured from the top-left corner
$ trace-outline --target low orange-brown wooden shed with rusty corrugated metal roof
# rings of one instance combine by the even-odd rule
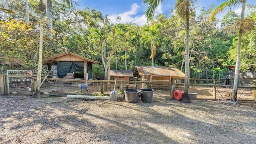
[[[142,81],[184,79],[185,74],[178,68],[162,66],[135,66],[134,75],[140,75]]]

